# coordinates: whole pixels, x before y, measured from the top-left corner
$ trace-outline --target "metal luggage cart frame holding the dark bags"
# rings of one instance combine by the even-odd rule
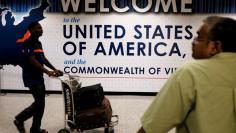
[[[77,130],[78,132],[83,132],[83,129],[81,130],[77,126],[78,123],[76,123],[76,115],[78,114],[75,111],[73,97],[74,92],[76,91],[76,89],[81,88],[82,83],[79,80],[79,76],[72,76],[68,74],[64,75],[65,76],[62,76],[63,79],[59,78],[62,84],[62,93],[64,99],[64,128],[60,129],[58,133],[72,133],[75,130]],[[114,133],[113,127],[118,124],[118,116],[114,115],[113,117],[116,118],[115,121],[111,120],[108,124],[104,122],[102,124],[103,126],[100,126],[104,127],[104,133]],[[86,128],[86,130],[90,129]]]

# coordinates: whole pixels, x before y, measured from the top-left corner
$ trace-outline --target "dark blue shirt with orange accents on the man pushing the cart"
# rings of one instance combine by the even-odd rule
[[[31,56],[34,56],[41,65],[45,63],[45,56],[41,42],[35,38],[29,38],[24,43],[22,52],[25,56],[25,60],[21,64],[25,87],[44,83],[43,72],[29,63],[29,58]]]

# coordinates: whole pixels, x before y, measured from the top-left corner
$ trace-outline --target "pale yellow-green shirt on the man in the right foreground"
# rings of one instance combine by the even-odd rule
[[[141,118],[147,133],[236,133],[236,53],[193,60],[166,82]]]

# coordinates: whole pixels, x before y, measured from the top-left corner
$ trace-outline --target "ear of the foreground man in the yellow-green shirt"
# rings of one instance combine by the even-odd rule
[[[222,52],[222,43],[220,41],[211,41],[208,48],[211,56],[216,55]]]

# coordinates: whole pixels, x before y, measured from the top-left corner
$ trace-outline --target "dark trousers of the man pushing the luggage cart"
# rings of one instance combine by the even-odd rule
[[[24,122],[27,119],[33,117],[33,123],[30,131],[37,132],[40,129],[45,108],[45,85],[35,85],[29,87],[29,89],[34,97],[34,102],[21,113],[19,113],[15,118],[19,122]]]

